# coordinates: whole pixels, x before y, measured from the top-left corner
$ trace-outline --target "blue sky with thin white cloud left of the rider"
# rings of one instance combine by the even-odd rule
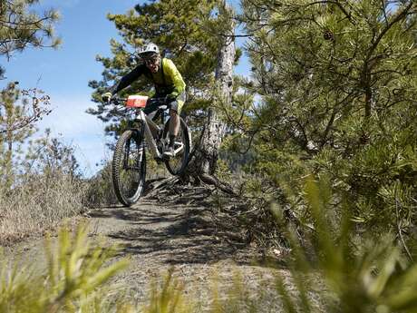
[[[142,1],[141,1],[142,2]],[[5,67],[6,82],[18,81],[20,88],[40,88],[51,95],[53,113],[38,125],[39,132],[50,128],[53,135],[76,147],[76,157],[86,176],[99,168],[102,159],[110,157],[105,142],[104,124],[85,113],[94,106],[90,101],[92,89],[88,81],[101,79],[102,65],[95,61],[97,54],[111,55],[110,39],[117,30],[106,15],[124,14],[138,0],[41,0],[44,8],[57,9],[62,18],[56,25],[56,34],[63,39],[58,50],[28,48],[23,54],[14,54]],[[237,3],[237,1],[232,1]],[[238,66],[237,73],[245,73],[247,60]]]

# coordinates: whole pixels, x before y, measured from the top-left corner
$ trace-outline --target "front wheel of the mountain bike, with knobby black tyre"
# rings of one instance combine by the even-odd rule
[[[112,161],[112,181],[117,199],[125,206],[139,200],[144,190],[146,154],[143,136],[126,131],[116,143]]]

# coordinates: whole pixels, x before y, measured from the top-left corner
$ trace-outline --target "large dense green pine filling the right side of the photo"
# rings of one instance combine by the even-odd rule
[[[414,219],[415,2],[242,4],[252,34],[246,90],[260,96],[245,130],[253,171],[287,181],[293,195],[306,174],[328,176],[364,224]]]

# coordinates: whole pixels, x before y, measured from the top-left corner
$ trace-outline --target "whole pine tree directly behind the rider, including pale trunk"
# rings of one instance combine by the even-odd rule
[[[127,15],[109,15],[121,31],[123,44],[112,40],[112,58],[99,56],[105,67],[100,82],[92,81],[95,89],[92,97],[97,108],[88,112],[97,115],[103,122],[112,122],[106,132],[118,136],[122,124],[116,112],[107,110],[100,95],[114,81],[131,71],[131,56],[145,41],[158,44],[167,51],[179,68],[187,84],[187,105],[191,126],[196,118],[207,118],[201,140],[188,176],[202,173],[213,174],[218,159],[218,147],[225,126],[218,118],[218,102],[229,103],[232,73],[235,63],[233,17],[224,1],[168,1],[136,5]],[[217,14],[216,14],[217,13]],[[213,30],[216,30],[213,32]],[[213,88],[217,85],[216,88]],[[124,94],[138,93],[149,89],[145,81],[133,83]],[[215,91],[213,93],[213,90]],[[199,125],[201,126],[201,125]]]

